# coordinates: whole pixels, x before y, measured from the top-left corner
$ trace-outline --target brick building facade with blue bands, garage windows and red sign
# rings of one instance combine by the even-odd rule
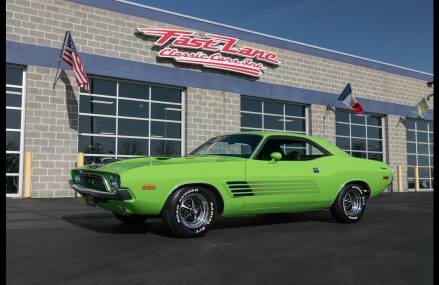
[[[57,72],[66,31],[91,92],[65,63]],[[26,151],[31,197],[72,197],[78,152],[86,163],[181,156],[212,136],[257,129],[319,136],[395,173],[401,166],[404,191],[414,191],[418,165],[420,190],[432,191],[432,111],[409,115],[432,80],[126,1],[7,0],[6,195],[23,195]],[[347,83],[365,115],[336,102]]]

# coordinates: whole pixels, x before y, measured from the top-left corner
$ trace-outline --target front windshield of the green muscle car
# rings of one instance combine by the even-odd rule
[[[238,134],[211,138],[189,155],[224,155],[249,158],[261,141],[259,135]]]

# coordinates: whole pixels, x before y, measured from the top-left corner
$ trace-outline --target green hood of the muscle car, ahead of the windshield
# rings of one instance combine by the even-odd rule
[[[242,161],[245,158],[231,156],[188,156],[188,157],[145,157],[125,159],[108,164],[88,165],[85,168],[96,169],[99,171],[121,172],[133,168],[145,166],[171,165],[171,164],[191,164],[191,163],[207,163],[207,162],[226,162],[226,161]]]

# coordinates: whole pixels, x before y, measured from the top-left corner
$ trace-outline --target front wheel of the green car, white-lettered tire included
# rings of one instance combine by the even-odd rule
[[[216,218],[215,195],[203,187],[183,187],[166,201],[162,217],[179,237],[205,235]]]

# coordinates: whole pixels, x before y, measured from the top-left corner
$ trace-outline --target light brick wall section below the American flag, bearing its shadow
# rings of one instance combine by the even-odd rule
[[[56,69],[28,66],[26,74],[24,145],[33,153],[31,197],[74,196],[67,186],[78,152],[74,74],[62,72],[55,89]]]

